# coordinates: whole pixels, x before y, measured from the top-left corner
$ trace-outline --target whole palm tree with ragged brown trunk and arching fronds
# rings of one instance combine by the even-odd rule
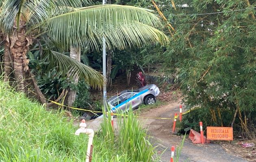
[[[160,21],[151,10],[121,5],[89,5],[87,0],[0,0],[0,46],[4,46],[4,78],[11,76],[24,91],[28,63],[26,53],[34,40],[62,49],[124,49],[145,43],[164,43],[167,37],[155,29]],[[52,63],[61,72],[84,77],[92,87],[104,79],[97,72],[61,53],[50,51]],[[78,71],[78,72],[77,72]]]

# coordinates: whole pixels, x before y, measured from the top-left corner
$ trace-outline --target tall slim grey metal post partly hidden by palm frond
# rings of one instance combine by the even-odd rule
[[[102,0],[102,4],[106,4],[106,0]],[[103,76],[106,80],[106,40],[102,38],[102,55],[103,55]],[[104,110],[107,112],[107,103],[106,103],[106,83],[103,85],[103,105]]]

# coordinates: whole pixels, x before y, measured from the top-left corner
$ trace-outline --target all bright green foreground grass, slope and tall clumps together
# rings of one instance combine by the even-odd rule
[[[119,118],[119,121],[121,118]],[[149,136],[132,113],[113,134],[104,119],[93,139],[93,162],[153,162]],[[49,112],[0,81],[0,162],[84,162],[87,135],[64,112]]]

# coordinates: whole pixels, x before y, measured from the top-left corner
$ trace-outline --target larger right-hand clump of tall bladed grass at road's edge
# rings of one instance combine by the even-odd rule
[[[147,130],[142,128],[141,123],[129,109],[128,116],[122,118],[117,116],[118,122],[118,144],[124,153],[138,162],[151,162],[155,147],[150,143]]]

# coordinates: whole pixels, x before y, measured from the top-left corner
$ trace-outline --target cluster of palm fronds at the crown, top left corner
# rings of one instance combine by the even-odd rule
[[[74,8],[88,4],[90,0],[1,0],[0,2],[0,28],[4,32],[10,32],[14,20],[17,22],[20,15],[25,18],[28,24],[37,24],[49,18],[52,10],[61,11],[62,7],[69,6]],[[1,6],[1,4],[3,4]],[[29,18],[29,19],[28,19]],[[17,23],[17,26],[19,23]]]

